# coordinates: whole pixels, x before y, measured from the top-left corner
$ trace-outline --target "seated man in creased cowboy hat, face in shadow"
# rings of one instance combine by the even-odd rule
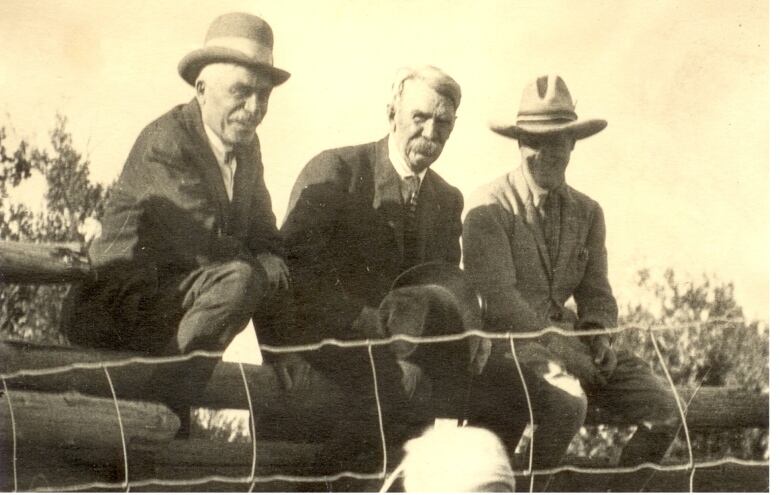
[[[523,90],[515,122],[492,126],[517,141],[520,160],[513,171],[474,193],[464,222],[465,269],[486,300],[486,327],[523,332],[617,325],[617,304],[607,278],[604,214],[596,201],[566,182],[576,142],[606,126],[605,120],[578,118],[569,90],[557,75],[531,81]],[[565,306],[570,298],[576,312]],[[575,386],[573,394],[562,396],[566,406],[561,408],[554,398],[560,395],[555,380],[545,379],[542,388],[531,390],[532,403],[539,408],[534,416],[540,418],[537,453],[541,451],[548,462],[563,455],[590,400],[638,425],[621,464],[654,462],[664,456],[675,437],[677,408],[668,385],[647,363],[613,349],[606,335],[550,336],[542,344],[525,344],[533,352],[523,354],[533,356],[536,363],[529,367],[531,375],[556,369],[559,378],[569,376],[571,384],[568,371],[579,380],[587,399]],[[494,347],[483,374],[512,369],[513,363],[501,362],[501,354]],[[552,419],[556,415],[559,419]]]

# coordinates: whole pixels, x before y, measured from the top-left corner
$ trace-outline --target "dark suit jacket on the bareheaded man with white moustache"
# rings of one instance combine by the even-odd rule
[[[365,338],[350,326],[377,308],[401,273],[401,178],[388,139],[325,151],[298,177],[282,236],[300,327],[297,341]],[[428,170],[417,203],[418,263],[460,263],[463,196]]]

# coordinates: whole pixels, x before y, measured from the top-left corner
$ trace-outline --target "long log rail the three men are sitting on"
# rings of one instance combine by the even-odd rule
[[[119,361],[134,355],[94,349],[62,346],[41,346],[29,343],[0,342],[0,374],[8,375],[23,369],[45,369],[72,363],[100,363]],[[143,385],[158,365],[130,364],[111,367],[109,371],[119,397],[143,400]],[[244,365],[253,395],[254,413],[258,418],[277,421],[292,417],[321,431],[332,423],[324,412],[349,407],[348,397],[333,382],[314,372],[310,386],[296,392],[285,392],[270,366]],[[76,391],[88,395],[110,397],[102,369],[72,370],[65,373],[7,380],[13,389],[40,392]],[[691,429],[768,427],[769,396],[737,388],[681,387],[681,399],[688,404],[687,423]],[[693,399],[691,400],[691,397]],[[193,405],[213,409],[248,408],[241,372],[236,363],[219,362],[206,392],[193,400]],[[338,417],[334,418],[337,420]],[[591,411],[589,422],[620,424],[619,418],[610,418],[599,411]],[[305,429],[301,425],[299,429]]]

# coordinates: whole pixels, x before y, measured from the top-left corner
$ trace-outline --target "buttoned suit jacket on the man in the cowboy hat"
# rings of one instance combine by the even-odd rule
[[[486,300],[486,323],[499,330],[538,330],[548,325],[614,327],[617,305],[607,278],[601,207],[564,185],[555,265],[538,225],[529,222],[530,194],[515,170],[469,198],[463,227],[466,273]],[[575,316],[564,304],[574,296]]]

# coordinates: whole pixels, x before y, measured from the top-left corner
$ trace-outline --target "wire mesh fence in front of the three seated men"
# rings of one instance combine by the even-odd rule
[[[6,398],[6,404],[9,409],[9,418],[11,422],[11,434],[12,434],[12,476],[13,476],[13,490],[17,491],[18,486],[18,458],[17,458],[17,427],[16,417],[14,415],[14,405],[12,401],[11,389],[7,385],[8,380],[13,380],[22,377],[36,377],[46,376],[59,373],[68,373],[77,370],[99,370],[102,369],[105,373],[106,380],[111,390],[111,396],[114,401],[116,414],[117,414],[117,429],[121,438],[122,446],[122,465],[123,465],[123,480],[119,482],[103,482],[95,481],[88,483],[70,484],[63,486],[44,486],[35,487],[35,491],[85,491],[85,490],[123,490],[130,491],[133,488],[144,488],[149,486],[160,487],[197,487],[203,486],[208,483],[229,483],[229,484],[246,484],[248,491],[253,491],[258,483],[270,483],[270,482],[290,482],[290,483],[332,483],[341,479],[350,478],[354,480],[364,481],[386,481],[388,479],[388,447],[385,437],[384,418],[382,415],[382,404],[380,400],[379,380],[377,377],[376,364],[374,362],[373,349],[377,346],[386,346],[395,342],[407,342],[412,344],[432,344],[432,343],[446,343],[455,342],[467,338],[480,337],[490,340],[507,340],[510,349],[512,351],[512,357],[514,359],[520,380],[523,386],[523,391],[527,401],[529,412],[529,428],[531,436],[528,447],[528,467],[514,471],[515,476],[529,478],[529,491],[533,491],[534,478],[538,475],[555,475],[563,472],[574,472],[580,474],[597,474],[597,475],[614,475],[614,474],[628,474],[641,471],[643,469],[652,469],[659,472],[676,472],[676,471],[688,471],[689,472],[689,491],[693,491],[694,488],[694,476],[697,468],[714,468],[724,465],[739,465],[739,466],[769,466],[768,460],[753,461],[737,459],[734,457],[724,457],[719,460],[696,462],[693,455],[693,445],[691,442],[691,436],[687,424],[687,410],[693,397],[690,398],[688,403],[684,403],[681,399],[677,387],[675,386],[672,376],[669,372],[667,364],[662,356],[661,350],[658,346],[655,333],[664,330],[676,330],[682,328],[690,328],[694,326],[712,325],[712,324],[737,324],[745,323],[743,319],[722,318],[722,319],[710,319],[702,322],[691,322],[677,325],[658,325],[646,328],[641,328],[636,325],[623,325],[610,329],[594,329],[594,330],[563,330],[560,328],[547,328],[534,332],[490,332],[483,330],[467,330],[455,334],[437,335],[437,336],[411,336],[405,334],[397,334],[382,339],[367,339],[362,341],[356,340],[339,340],[339,339],[324,339],[317,343],[305,344],[305,345],[293,345],[293,346],[270,346],[261,344],[261,351],[270,351],[274,353],[293,353],[293,352],[305,352],[316,351],[326,346],[337,346],[341,348],[359,348],[363,347],[367,350],[369,362],[372,371],[373,392],[376,402],[376,410],[378,417],[378,429],[381,439],[382,449],[382,465],[381,470],[373,473],[359,473],[353,471],[342,471],[331,475],[318,475],[318,476],[303,476],[303,475],[286,475],[286,474],[272,474],[259,476],[256,473],[257,468],[257,432],[254,424],[254,411],[252,407],[252,395],[250,391],[249,382],[247,381],[246,373],[244,371],[243,364],[239,363],[239,369],[243,380],[244,390],[247,399],[247,408],[250,415],[250,434],[252,442],[252,460],[251,466],[249,466],[249,474],[247,476],[222,476],[212,475],[203,476],[191,479],[160,479],[160,478],[145,478],[141,480],[132,480],[130,473],[130,462],[128,459],[127,438],[125,435],[122,416],[119,409],[119,401],[117,399],[116,391],[114,390],[113,381],[111,378],[110,370],[128,366],[131,364],[166,364],[184,362],[196,357],[207,358],[221,358],[222,351],[193,351],[184,355],[177,356],[164,356],[164,357],[146,357],[146,356],[134,356],[123,359],[116,359],[110,361],[100,362],[75,362],[61,366],[51,366],[45,368],[30,368],[15,370],[9,373],[0,374],[2,380],[3,391]],[[583,337],[593,335],[615,335],[626,331],[647,331],[655,350],[655,355],[664,371],[666,381],[674,395],[677,409],[680,415],[680,423],[682,430],[685,434],[685,442],[688,451],[688,462],[685,464],[674,465],[660,465],[656,463],[644,463],[631,467],[609,467],[609,468],[586,468],[574,465],[558,466],[550,469],[534,469],[533,467],[533,455],[534,455],[534,416],[533,416],[533,404],[531,403],[530,394],[526,384],[526,379],[522,371],[520,360],[518,359],[515,341],[516,340],[529,340],[543,337],[547,334],[556,333],[567,337]]]

